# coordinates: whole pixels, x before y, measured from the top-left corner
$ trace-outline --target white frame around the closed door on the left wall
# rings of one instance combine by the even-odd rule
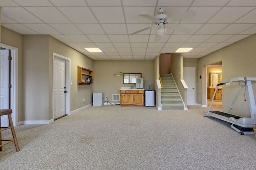
[[[70,115],[70,58],[64,57],[57,53],[52,53],[52,121],[54,121],[54,59],[55,57],[66,60],[66,115]]]

